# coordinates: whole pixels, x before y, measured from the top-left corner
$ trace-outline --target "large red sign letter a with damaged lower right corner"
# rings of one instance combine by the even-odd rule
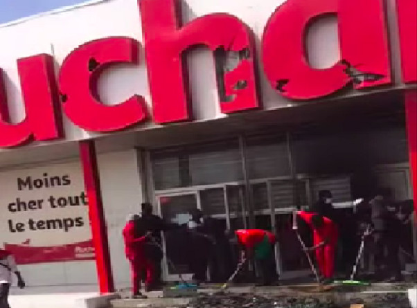
[[[337,15],[341,61],[312,69],[305,33],[317,17]],[[356,89],[391,82],[382,0],[288,0],[269,19],[263,35],[263,64],[272,87],[287,98],[327,96],[353,82]]]

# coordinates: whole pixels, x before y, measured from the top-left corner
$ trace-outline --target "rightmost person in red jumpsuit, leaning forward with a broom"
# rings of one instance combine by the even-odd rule
[[[330,282],[335,273],[335,253],[337,248],[337,226],[315,212],[297,212],[313,230],[313,246],[307,251],[314,251],[317,264],[324,282]]]

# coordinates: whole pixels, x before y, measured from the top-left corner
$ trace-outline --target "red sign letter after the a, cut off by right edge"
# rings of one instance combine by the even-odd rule
[[[417,1],[397,0],[402,81],[417,82]]]

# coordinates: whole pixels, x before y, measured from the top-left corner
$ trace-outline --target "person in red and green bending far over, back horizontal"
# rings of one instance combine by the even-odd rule
[[[230,233],[229,233],[230,235]],[[241,261],[254,259],[262,275],[262,285],[271,285],[277,278],[274,270],[274,246],[276,236],[266,230],[236,230],[234,240],[241,248]]]

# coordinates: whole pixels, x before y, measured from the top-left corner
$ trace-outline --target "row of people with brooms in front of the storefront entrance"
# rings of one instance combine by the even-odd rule
[[[400,234],[409,239],[405,239],[405,246],[410,243],[412,246],[409,238],[412,213],[412,202],[394,202],[389,189],[376,190],[369,200],[356,204],[355,210],[335,208],[332,192],[323,190],[317,203],[308,210],[294,212],[292,220],[294,226],[303,226],[300,230],[304,232],[299,234],[301,246],[307,255],[314,256],[312,266],[319,269],[321,282],[331,282],[337,276],[349,277],[361,240],[366,241],[366,251],[372,251],[373,279],[395,282],[402,279]],[[168,258],[175,263],[175,251],[182,261],[186,256],[195,284],[206,282],[208,277],[211,282],[225,282],[236,264],[247,260],[259,274],[260,284],[278,281],[274,246],[279,235],[260,229],[226,230],[220,220],[205,216],[201,210],[191,210],[189,214],[186,224],[171,224],[154,215],[150,203],[143,203],[141,214],[129,217],[123,237],[135,297],[143,297],[143,280],[146,291],[161,289],[163,285],[161,233],[175,239],[169,241],[171,248],[167,243]],[[175,241],[184,244],[180,251]],[[409,257],[413,257],[412,247]]]

